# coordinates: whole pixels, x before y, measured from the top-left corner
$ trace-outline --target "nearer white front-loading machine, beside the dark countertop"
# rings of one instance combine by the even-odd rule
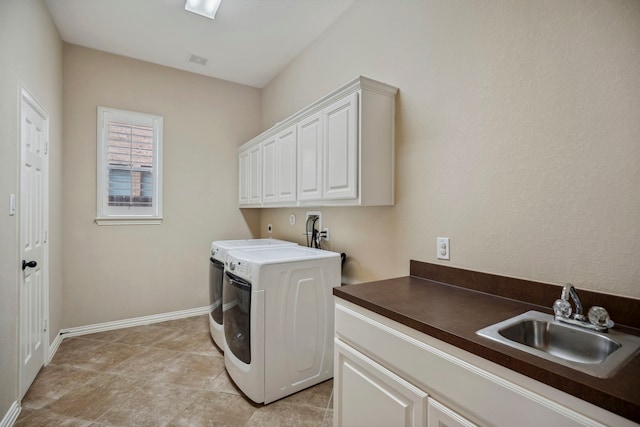
[[[305,246],[231,250],[222,311],[227,372],[256,403],[333,377],[340,254]]]

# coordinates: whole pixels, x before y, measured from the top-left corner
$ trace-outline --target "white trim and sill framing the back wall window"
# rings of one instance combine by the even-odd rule
[[[98,225],[142,225],[162,223],[162,140],[163,116],[140,113],[117,108],[98,106],[97,114],[97,192],[96,218]],[[136,125],[152,126],[153,135],[153,192],[152,206],[130,207],[126,213],[124,209],[108,206],[109,166],[106,124],[110,121],[120,121]]]

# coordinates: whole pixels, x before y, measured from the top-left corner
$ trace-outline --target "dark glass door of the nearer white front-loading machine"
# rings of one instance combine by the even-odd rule
[[[227,272],[222,285],[222,323],[227,347],[251,363],[251,283]]]

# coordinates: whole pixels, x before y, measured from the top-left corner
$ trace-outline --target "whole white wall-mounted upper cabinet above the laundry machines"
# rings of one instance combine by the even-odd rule
[[[262,194],[243,197],[240,160],[239,205],[393,205],[397,91],[358,77],[241,146],[262,147]]]

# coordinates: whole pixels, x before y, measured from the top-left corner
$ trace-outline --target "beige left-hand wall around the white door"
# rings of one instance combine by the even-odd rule
[[[51,340],[61,327],[62,42],[44,2],[0,1],[0,419],[18,399],[18,250],[20,85],[49,114],[49,271]],[[18,200],[18,206],[19,206]]]

